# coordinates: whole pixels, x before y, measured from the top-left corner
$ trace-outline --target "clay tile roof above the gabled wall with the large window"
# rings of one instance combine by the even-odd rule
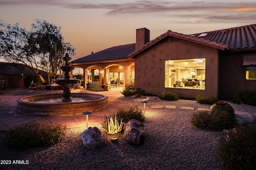
[[[152,46],[162,39],[165,39],[166,37],[184,39],[221,50],[249,49],[256,47],[256,24],[192,35],[186,35],[168,30],[166,33],[156,37],[156,39],[149,41],[136,51],[129,54],[128,58],[134,58],[135,55],[141,51],[144,51],[144,49]]]

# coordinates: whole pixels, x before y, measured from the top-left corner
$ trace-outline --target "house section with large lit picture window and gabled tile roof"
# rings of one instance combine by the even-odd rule
[[[136,44],[149,33],[139,30]],[[128,58],[135,60],[135,88],[152,95],[164,89],[183,98],[232,98],[236,90],[256,89],[256,24],[192,35],[168,30]]]

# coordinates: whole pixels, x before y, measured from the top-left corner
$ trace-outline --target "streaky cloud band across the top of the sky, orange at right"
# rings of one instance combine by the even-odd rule
[[[95,1],[97,2],[97,1]],[[159,17],[181,18],[182,20],[227,21],[251,20],[256,18],[256,2],[206,2],[206,1],[169,1],[138,0],[133,2],[88,3],[63,0],[0,0],[0,5],[60,6],[70,9],[104,9],[105,14],[114,15],[154,15]],[[182,21],[181,20],[181,21]]]

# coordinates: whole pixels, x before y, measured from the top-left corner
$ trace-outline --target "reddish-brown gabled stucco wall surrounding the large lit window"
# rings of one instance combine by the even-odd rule
[[[165,61],[206,58],[205,90],[164,88]],[[159,42],[135,56],[135,88],[158,95],[161,89],[172,91],[182,98],[210,95],[218,98],[218,49],[176,40]]]

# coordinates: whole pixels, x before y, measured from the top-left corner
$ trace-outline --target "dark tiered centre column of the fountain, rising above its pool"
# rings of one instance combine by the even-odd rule
[[[61,88],[63,88],[62,102],[72,101],[72,93],[70,89],[80,82],[80,79],[70,79],[70,71],[74,70],[74,66],[70,66],[69,63],[71,59],[72,58],[69,57],[68,53],[66,53],[66,55],[62,57],[62,60],[65,61],[65,63],[64,66],[59,66],[59,69],[64,72],[64,76],[63,78],[57,78],[52,80],[52,82],[55,82]]]

